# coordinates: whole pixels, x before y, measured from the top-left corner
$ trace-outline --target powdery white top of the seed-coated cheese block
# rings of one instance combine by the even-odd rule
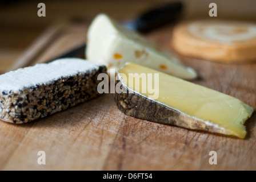
[[[33,67],[17,69],[0,75],[0,91],[19,90],[24,87],[46,83],[60,77],[74,75],[77,72],[90,72],[100,64],[83,59],[66,58],[48,64],[37,64]]]

